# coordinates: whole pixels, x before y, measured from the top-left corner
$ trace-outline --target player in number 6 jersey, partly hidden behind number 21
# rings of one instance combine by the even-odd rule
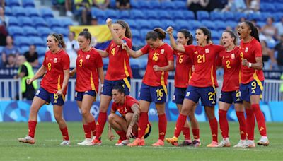
[[[192,44],[193,37],[188,30],[179,30],[177,33],[177,44],[180,45],[190,45]],[[176,56],[176,68],[175,68],[175,91],[173,95],[173,102],[178,107],[179,112],[182,109],[183,100],[185,98],[185,92],[187,90],[187,85],[189,84],[190,77],[192,76],[192,61],[190,60],[190,56],[185,54],[184,52],[178,52],[174,50],[174,54]],[[195,119],[195,109],[194,112],[189,116],[192,124],[192,133],[194,138],[198,138],[198,129],[199,125],[197,120]],[[185,141],[179,144],[180,146],[192,145],[192,141],[190,140],[190,126],[189,121],[185,121],[185,126],[183,127],[183,135],[185,137]],[[178,143],[174,143],[174,145],[178,145]]]

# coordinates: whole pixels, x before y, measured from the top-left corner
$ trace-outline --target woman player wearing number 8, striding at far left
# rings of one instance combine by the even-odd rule
[[[35,127],[37,124],[37,113],[45,103],[52,103],[54,117],[59,124],[62,132],[63,142],[60,145],[69,145],[69,135],[67,124],[62,117],[64,105],[64,95],[66,95],[67,85],[69,81],[70,59],[64,51],[65,42],[63,35],[50,34],[47,37],[47,47],[50,49],[45,54],[45,59],[35,76],[27,80],[28,84],[33,83],[37,78],[43,76],[40,83],[40,89],[35,93],[33,103],[30,107],[30,118],[28,121],[28,136],[18,138],[22,143],[35,143]],[[63,49],[62,49],[62,48]]]

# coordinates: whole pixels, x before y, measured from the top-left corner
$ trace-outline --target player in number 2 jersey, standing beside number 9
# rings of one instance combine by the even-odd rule
[[[224,80],[219,97],[219,125],[223,140],[218,147],[230,147],[229,141],[229,124],[227,121],[227,111],[232,103],[236,110],[240,125],[241,140],[234,147],[243,147],[246,143],[246,121],[243,114],[243,101],[241,100],[240,74],[241,74],[241,56],[236,47],[237,37],[231,30],[225,30],[222,33],[222,44],[225,50],[219,53],[219,62],[217,65],[224,68]]]

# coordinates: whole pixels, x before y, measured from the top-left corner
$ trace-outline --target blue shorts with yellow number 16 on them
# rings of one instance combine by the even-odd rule
[[[139,90],[139,100],[147,102],[164,103],[166,102],[167,88],[166,86],[149,86],[141,83],[141,90]]]

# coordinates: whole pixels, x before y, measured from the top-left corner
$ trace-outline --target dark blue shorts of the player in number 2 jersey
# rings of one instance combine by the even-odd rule
[[[226,103],[229,103],[229,104],[243,103],[243,101],[241,100],[240,90],[231,91],[231,92],[221,91],[219,101],[226,102]]]

